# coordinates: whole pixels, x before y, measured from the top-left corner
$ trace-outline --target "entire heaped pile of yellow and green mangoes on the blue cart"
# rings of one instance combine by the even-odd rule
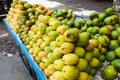
[[[42,5],[13,0],[6,20],[48,79],[93,80],[101,68],[103,79],[117,78],[118,14],[107,8],[103,13],[91,13],[90,20],[75,18],[72,10],[51,11]]]

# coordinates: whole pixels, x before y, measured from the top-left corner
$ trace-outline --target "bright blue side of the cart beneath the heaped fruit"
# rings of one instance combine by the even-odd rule
[[[36,63],[32,60],[29,52],[27,51],[26,47],[24,46],[18,35],[10,28],[5,19],[3,19],[3,22],[12,38],[15,40],[21,62],[23,63],[23,66],[28,73],[30,80],[46,80],[46,77],[38,68]]]

